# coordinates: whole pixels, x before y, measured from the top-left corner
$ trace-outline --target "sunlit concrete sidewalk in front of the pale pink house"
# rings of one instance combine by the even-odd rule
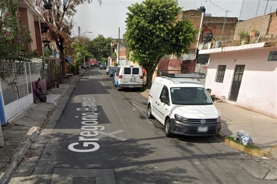
[[[220,133],[231,136],[244,130],[262,151],[271,151],[277,158],[277,119],[224,102],[215,106],[222,114]]]

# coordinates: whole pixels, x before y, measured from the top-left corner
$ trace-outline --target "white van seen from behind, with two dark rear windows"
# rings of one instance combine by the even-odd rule
[[[114,85],[121,88],[140,88],[143,85],[141,66],[117,66],[114,76]]]

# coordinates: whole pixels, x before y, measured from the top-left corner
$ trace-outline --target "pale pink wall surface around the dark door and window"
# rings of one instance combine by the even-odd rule
[[[205,87],[226,102],[277,118],[277,61],[267,61],[276,47],[211,54]],[[223,83],[216,82],[218,65],[226,65]],[[229,95],[235,65],[245,65],[237,101]]]

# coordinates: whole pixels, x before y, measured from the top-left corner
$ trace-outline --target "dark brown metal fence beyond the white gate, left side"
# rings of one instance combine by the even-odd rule
[[[45,57],[46,87],[52,89],[62,83],[61,61],[52,57]]]

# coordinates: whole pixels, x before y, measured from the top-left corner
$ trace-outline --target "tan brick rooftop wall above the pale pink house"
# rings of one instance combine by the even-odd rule
[[[275,14],[275,13],[266,14],[266,15],[259,16],[256,18],[251,18],[248,20],[244,20],[242,22],[238,22],[235,27],[235,34],[234,34],[233,40],[239,40],[239,35],[238,35],[239,30],[248,31],[251,34],[252,29],[255,28],[259,32],[261,32],[262,36],[266,35],[269,32],[269,30],[268,30],[269,25],[270,25],[271,21],[274,19],[274,17],[272,19],[273,14]],[[276,17],[276,15],[275,15],[275,17]],[[276,20],[276,18],[275,18],[275,20]],[[274,25],[275,25],[275,28],[274,28]],[[274,29],[276,30],[276,21],[275,21],[275,24],[273,22],[272,26],[270,26],[271,32],[274,31]]]

